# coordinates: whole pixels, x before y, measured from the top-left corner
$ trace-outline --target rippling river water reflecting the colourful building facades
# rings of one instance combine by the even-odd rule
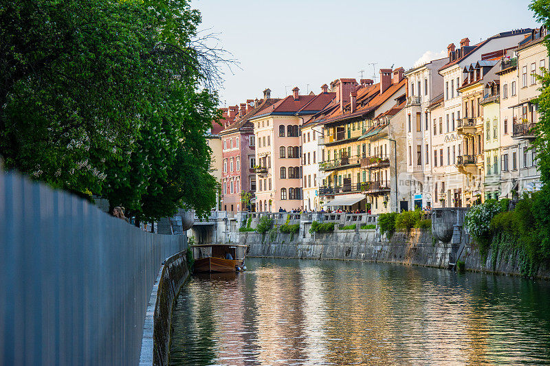
[[[550,282],[336,260],[247,266],[182,288],[170,364],[550,364]]]

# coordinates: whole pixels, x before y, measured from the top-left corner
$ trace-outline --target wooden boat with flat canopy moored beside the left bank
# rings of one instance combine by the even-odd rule
[[[193,251],[194,273],[223,273],[242,271],[244,267],[246,245],[240,244],[198,244]],[[228,253],[233,259],[225,259]]]

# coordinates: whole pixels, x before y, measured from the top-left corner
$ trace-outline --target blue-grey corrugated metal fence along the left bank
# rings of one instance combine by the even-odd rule
[[[185,247],[0,172],[0,365],[136,365],[158,268]]]

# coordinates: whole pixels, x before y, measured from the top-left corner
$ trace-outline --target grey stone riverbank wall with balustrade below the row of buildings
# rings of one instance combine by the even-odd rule
[[[437,268],[452,268],[461,260],[467,271],[521,275],[521,255],[512,249],[496,255],[489,251],[483,260],[463,226],[465,212],[461,208],[434,209],[432,230],[398,231],[391,238],[381,235],[379,229],[360,229],[362,225],[376,224],[376,216],[368,214],[240,213],[218,220],[212,231],[208,235],[202,233],[201,238],[207,242],[248,244],[251,257],[364,260]],[[254,229],[262,216],[272,218],[276,226],[299,224],[300,230],[294,235],[239,231],[245,226]],[[335,229],[330,233],[309,233],[314,221],[334,222]],[[353,224],[355,229],[343,229]],[[541,266],[536,277],[550,279],[550,268]]]

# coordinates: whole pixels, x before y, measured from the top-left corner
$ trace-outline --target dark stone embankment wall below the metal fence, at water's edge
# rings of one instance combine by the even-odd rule
[[[172,310],[179,288],[189,277],[186,251],[168,258],[160,275],[153,324],[153,365],[168,365]]]

